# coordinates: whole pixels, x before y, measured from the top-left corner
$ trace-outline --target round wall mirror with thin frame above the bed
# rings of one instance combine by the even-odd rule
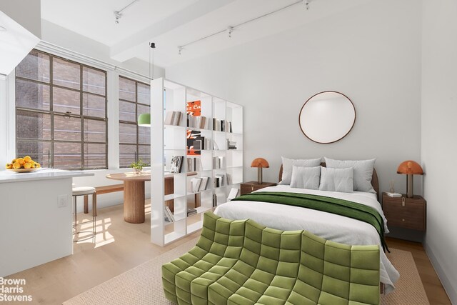
[[[298,124],[303,134],[317,143],[341,140],[356,122],[352,101],[336,91],[324,91],[311,96],[301,107]]]

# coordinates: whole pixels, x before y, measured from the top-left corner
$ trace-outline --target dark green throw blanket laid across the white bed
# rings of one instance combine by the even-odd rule
[[[364,221],[367,224],[374,226],[376,231],[378,231],[383,250],[388,251],[386,241],[384,240],[383,218],[379,215],[378,211],[371,206],[333,197],[286,193],[281,191],[258,191],[241,195],[232,199],[232,201],[263,201],[271,202],[273,204],[286,204],[288,206],[301,206],[307,209],[324,211]]]

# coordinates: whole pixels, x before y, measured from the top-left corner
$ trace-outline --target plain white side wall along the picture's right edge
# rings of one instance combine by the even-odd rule
[[[422,164],[426,251],[457,304],[457,2],[423,1]]]

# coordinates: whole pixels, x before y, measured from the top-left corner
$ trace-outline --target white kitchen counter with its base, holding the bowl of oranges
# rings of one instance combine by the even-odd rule
[[[84,171],[0,171],[0,276],[73,253],[71,183]]]

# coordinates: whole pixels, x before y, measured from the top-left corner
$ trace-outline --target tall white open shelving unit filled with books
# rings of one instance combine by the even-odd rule
[[[186,105],[191,101],[201,101],[201,116],[209,120],[206,129],[187,126]],[[169,111],[181,112],[179,124],[164,124]],[[222,129],[214,119],[231,122],[231,130],[230,124]],[[189,130],[200,131],[206,140],[200,155],[188,155]],[[228,141],[236,142],[236,149],[229,149]],[[170,169],[173,156],[184,156],[184,164],[181,173],[171,174],[174,188],[166,194],[164,170]],[[188,171],[189,158],[200,159],[200,171]],[[224,177],[220,186],[216,186],[216,176]],[[191,191],[195,177],[209,177],[204,191]],[[164,246],[201,229],[204,212],[224,204],[231,189],[239,190],[242,182],[243,106],[166,79],[151,81],[151,241]],[[174,222],[164,220],[166,205],[173,211]],[[196,209],[196,214],[187,216],[188,208]]]

